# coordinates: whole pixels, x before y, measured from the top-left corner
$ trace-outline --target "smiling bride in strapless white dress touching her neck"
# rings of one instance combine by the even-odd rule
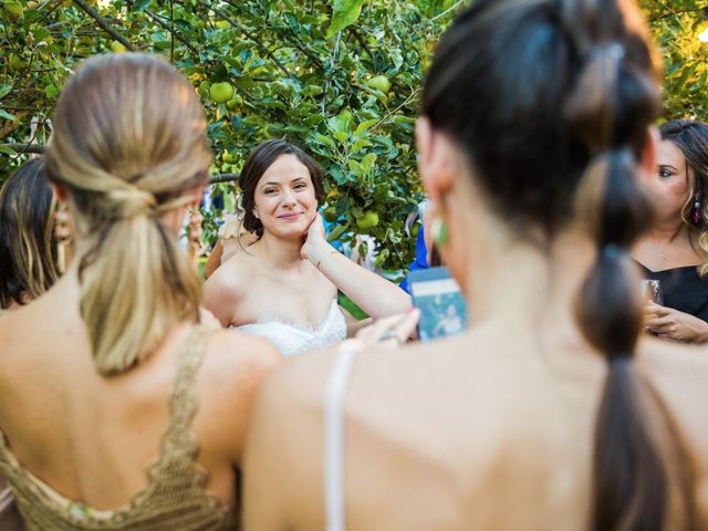
[[[205,283],[205,305],[223,326],[260,335],[294,356],[343,341],[337,290],[374,319],[404,313],[409,296],[335,251],[317,214],[322,173],[299,147],[267,140],[248,156],[239,185],[243,227],[258,240]]]

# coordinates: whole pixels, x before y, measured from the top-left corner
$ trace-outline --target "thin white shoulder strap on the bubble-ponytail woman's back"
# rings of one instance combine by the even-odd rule
[[[354,358],[361,343],[345,341],[339,348],[324,397],[324,502],[326,531],[345,530],[344,402]]]

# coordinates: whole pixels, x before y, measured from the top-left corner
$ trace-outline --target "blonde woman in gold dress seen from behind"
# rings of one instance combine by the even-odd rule
[[[199,323],[178,244],[211,160],[194,88],[155,56],[90,59],[53,124],[76,254],[0,319],[0,472],[29,530],[233,529],[251,402],[279,356]]]

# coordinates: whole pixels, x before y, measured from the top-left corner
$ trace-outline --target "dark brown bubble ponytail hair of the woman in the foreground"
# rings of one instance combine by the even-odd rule
[[[652,212],[637,168],[659,112],[654,53],[627,1],[478,0],[441,39],[423,96],[424,116],[520,237],[541,229],[546,244],[577,219],[596,242],[575,306],[607,362],[595,531],[696,527],[680,440],[633,360],[642,311],[628,247]]]

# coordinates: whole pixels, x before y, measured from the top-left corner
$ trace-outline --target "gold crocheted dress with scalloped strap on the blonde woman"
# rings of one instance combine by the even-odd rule
[[[196,461],[199,446],[189,429],[197,412],[196,375],[210,332],[196,326],[178,355],[169,426],[158,457],[147,467],[147,486],[126,506],[102,511],[64,498],[17,461],[0,431],[0,473],[10,482],[28,531],[237,529],[232,512],[205,488],[207,472]]]

